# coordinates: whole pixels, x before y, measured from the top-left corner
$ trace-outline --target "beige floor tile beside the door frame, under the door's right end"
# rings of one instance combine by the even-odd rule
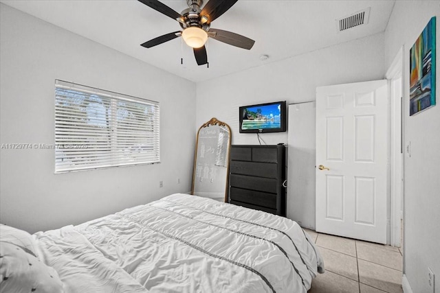
[[[366,242],[356,241],[356,250],[358,251],[358,259],[371,261],[395,270],[402,270],[402,256],[399,249],[397,251],[389,250]]]

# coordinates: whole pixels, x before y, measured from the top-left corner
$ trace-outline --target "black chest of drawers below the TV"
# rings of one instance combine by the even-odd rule
[[[285,145],[231,145],[229,202],[285,216],[285,163]]]

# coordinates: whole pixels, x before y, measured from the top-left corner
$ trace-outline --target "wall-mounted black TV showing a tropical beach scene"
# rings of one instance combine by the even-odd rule
[[[240,132],[284,132],[286,131],[286,102],[274,102],[241,106]]]

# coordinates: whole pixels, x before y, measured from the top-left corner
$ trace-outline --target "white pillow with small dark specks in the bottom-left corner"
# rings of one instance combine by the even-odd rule
[[[0,292],[58,293],[63,283],[54,268],[21,246],[0,241]]]

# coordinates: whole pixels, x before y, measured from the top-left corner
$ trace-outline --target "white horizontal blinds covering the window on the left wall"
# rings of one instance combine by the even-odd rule
[[[55,82],[55,173],[159,163],[159,103]]]

